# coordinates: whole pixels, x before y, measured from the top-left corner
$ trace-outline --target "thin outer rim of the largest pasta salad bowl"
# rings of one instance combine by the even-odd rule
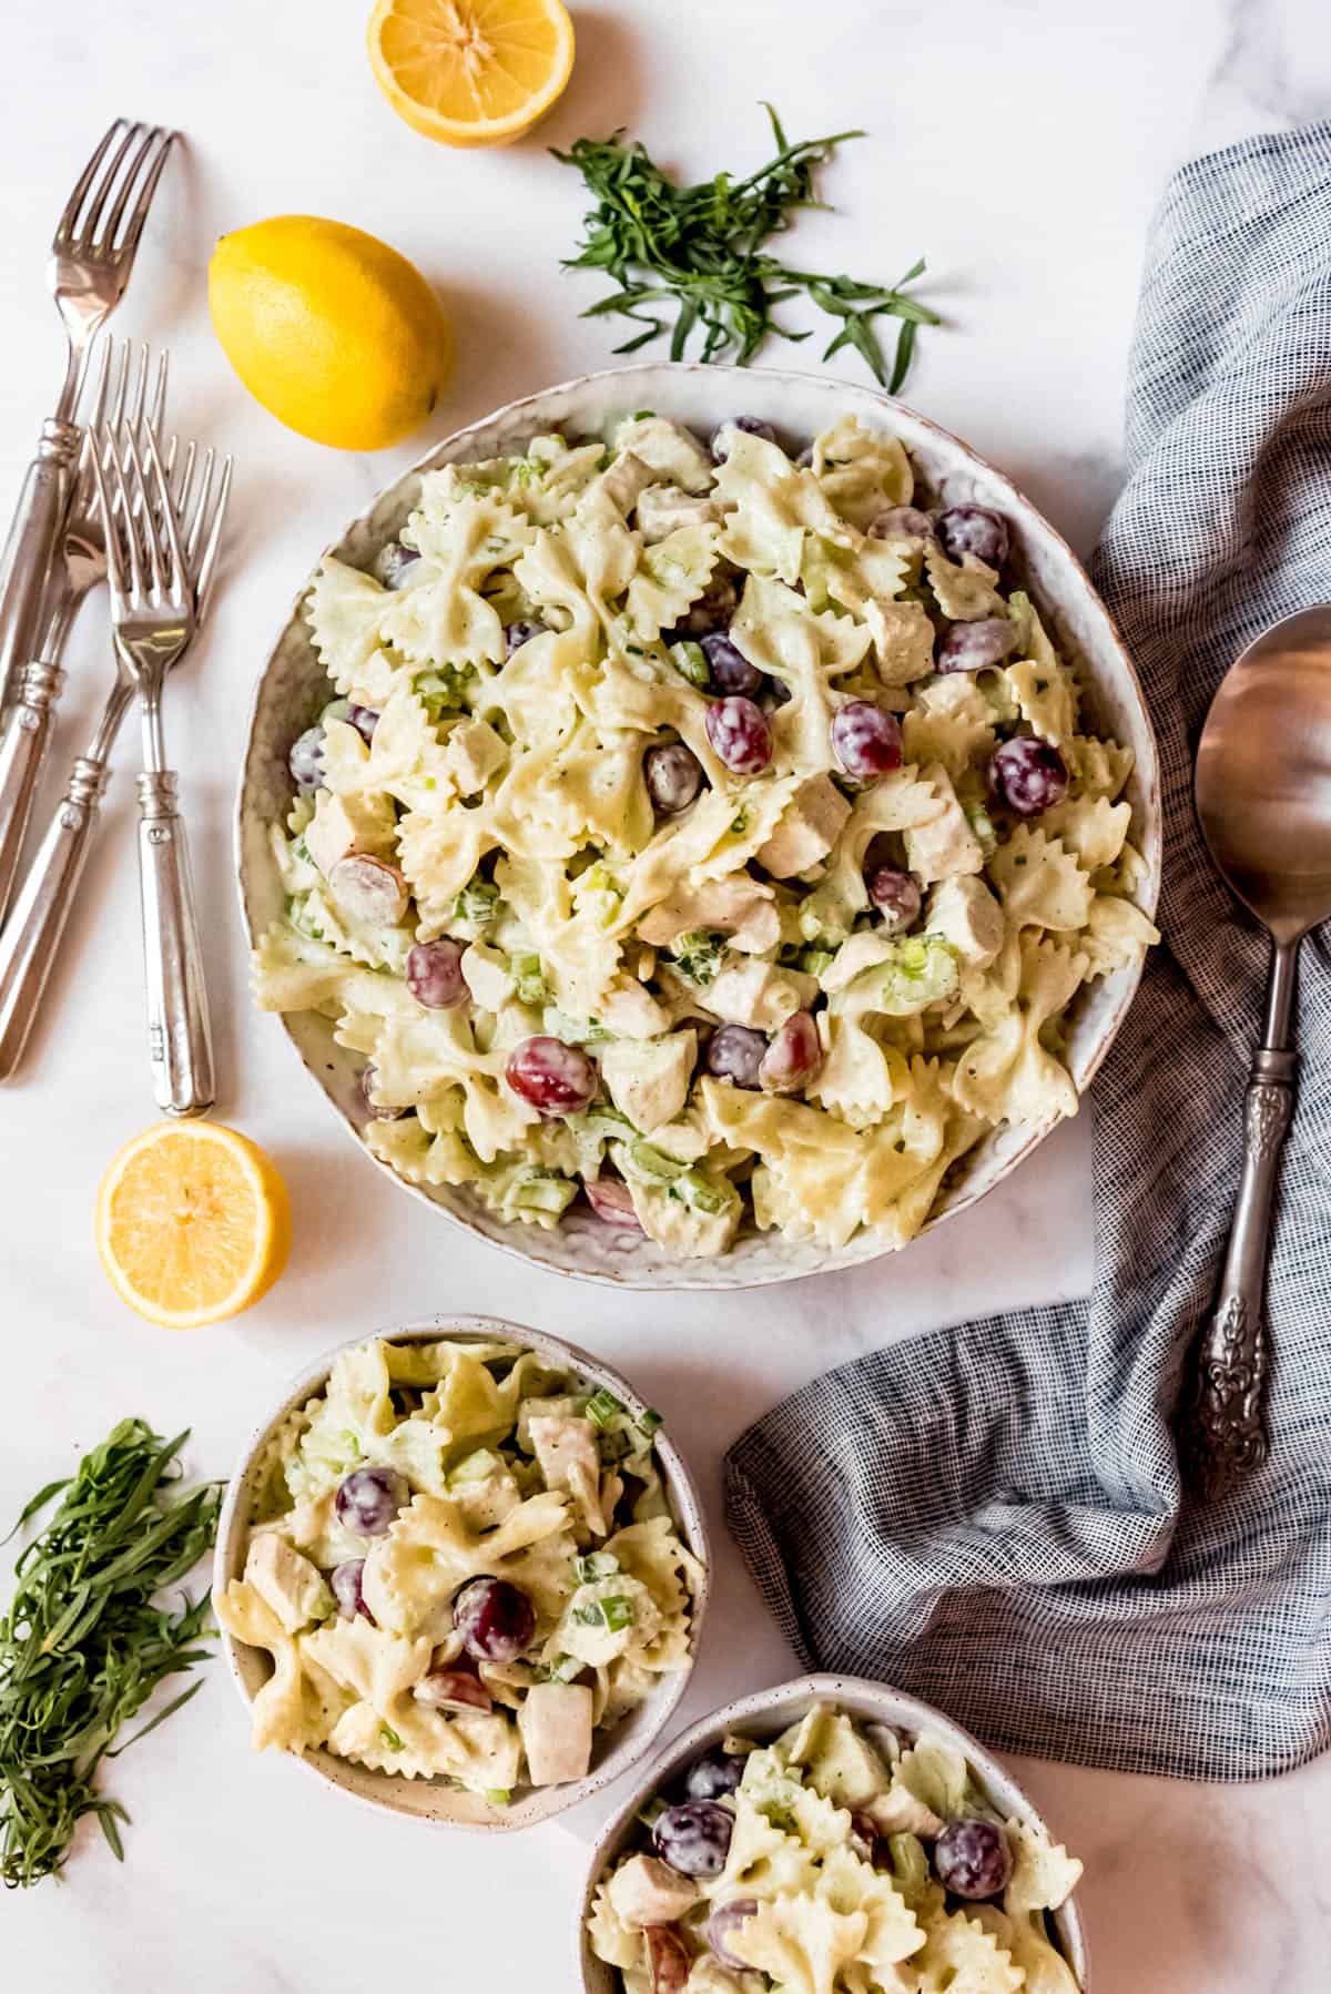
[[[369,524],[369,520],[379,510],[379,506],[389,497],[389,493],[395,493],[399,487],[405,487],[407,481],[411,481],[415,477],[421,477],[423,473],[435,469],[437,465],[463,461],[461,447],[465,447],[467,439],[477,437],[479,433],[491,429],[497,423],[519,421],[527,411],[535,411],[541,403],[547,403],[553,397],[559,397],[559,395],[575,397],[579,393],[585,393],[589,389],[597,389],[597,387],[601,387],[605,383],[611,383],[611,381],[625,381],[625,383],[631,381],[631,379],[647,381],[653,375],[657,375],[657,377],[659,375],[668,375],[672,379],[674,377],[698,377],[698,375],[704,375],[704,377],[710,379],[710,377],[716,377],[716,375],[730,375],[730,373],[734,373],[734,369],[720,367],[716,363],[704,363],[704,361],[641,361],[641,363],[633,363],[633,365],[627,365],[627,367],[599,367],[599,369],[593,369],[591,373],[573,375],[567,381],[555,381],[555,383],[549,383],[547,387],[533,389],[527,395],[519,395],[513,401],[501,403],[497,409],[491,409],[485,415],[475,417],[471,423],[465,423],[461,429],[449,431],[449,435],[441,437],[437,443],[431,443],[429,449],[423,451],[417,459],[413,459],[411,465],[407,465],[405,471],[401,471],[387,485],[379,487],[379,491],[367,500],[367,504],[363,504],[361,510],[355,512],[353,518],[349,518],[343,524],[339,536],[335,540],[329,540],[325,544],[323,552],[317,556],[317,560],[309,568],[309,574],[299,584],[299,588],[297,588],[297,592],[295,592],[295,596],[291,600],[291,608],[289,608],[289,612],[287,612],[287,616],[285,616],[285,620],[283,620],[283,624],[281,624],[281,628],[279,628],[273,644],[269,646],[269,650],[267,650],[267,654],[263,658],[263,664],[259,666],[259,672],[257,672],[255,680],[253,680],[253,688],[249,692],[247,710],[245,710],[245,750],[243,750],[243,756],[241,756],[241,768],[239,768],[239,778],[237,778],[237,788],[235,788],[235,806],[233,806],[233,820],[231,820],[231,851],[233,851],[233,867],[235,867],[235,891],[237,891],[237,901],[239,901],[239,917],[241,917],[241,927],[243,927],[243,933],[245,933],[245,939],[247,939],[249,947],[253,947],[257,943],[257,939],[259,939],[257,923],[251,919],[251,913],[249,913],[247,863],[245,863],[245,816],[247,816],[249,762],[251,762],[251,752],[253,752],[255,724],[257,724],[257,716],[259,716],[259,702],[263,700],[263,688],[265,688],[265,682],[267,682],[267,674],[271,670],[273,658],[275,658],[275,654],[277,654],[277,650],[279,650],[279,646],[283,642],[285,632],[289,630],[289,626],[297,620],[297,616],[301,612],[301,606],[303,606],[305,596],[309,592],[309,576],[321,566],[323,560],[329,558],[329,554],[337,556],[337,548],[357,528]],[[928,435],[932,439],[936,439],[948,451],[956,453],[960,461],[964,461],[972,469],[978,469],[980,473],[984,473],[986,479],[992,479],[994,483],[998,483],[1012,497],[1012,500],[1016,502],[1016,506],[1022,512],[1032,514],[1034,520],[1040,524],[1042,532],[1048,534],[1050,542],[1058,548],[1060,560],[1066,566],[1066,570],[1070,574],[1070,580],[1076,580],[1080,584],[1080,588],[1088,596],[1094,612],[1104,620],[1106,638],[1111,644],[1113,652],[1117,654],[1117,666],[1121,670],[1121,688],[1123,688],[1125,694],[1131,696],[1131,700],[1135,700],[1135,706],[1137,706],[1137,716],[1139,716],[1139,722],[1141,722],[1141,742],[1143,742],[1143,746],[1149,752],[1147,754],[1139,754],[1139,752],[1133,750],[1133,754],[1135,754],[1135,770],[1133,770],[1133,774],[1139,780],[1141,798],[1143,798],[1141,810],[1139,810],[1141,824],[1135,826],[1135,830],[1139,831],[1139,837],[1141,837],[1141,853],[1143,853],[1143,861],[1145,861],[1145,875],[1143,875],[1141,885],[1137,887],[1135,899],[1137,899],[1137,905],[1141,907],[1141,911],[1147,915],[1147,919],[1153,919],[1155,907],[1157,907],[1157,901],[1159,901],[1159,885],[1161,885],[1161,869],[1163,869],[1163,855],[1161,855],[1163,812],[1161,812],[1161,790],[1159,790],[1159,742],[1157,742],[1157,736],[1155,736],[1155,722],[1151,718],[1151,710],[1149,710],[1149,704],[1147,704],[1147,698],[1145,698],[1145,688],[1141,686],[1141,680],[1137,676],[1137,668],[1135,668],[1135,664],[1131,660],[1131,654],[1129,654],[1129,650],[1127,650],[1127,646],[1123,642],[1123,636],[1121,636],[1121,632],[1117,628],[1117,622],[1115,622],[1113,614],[1109,612],[1108,604],[1104,602],[1104,598],[1100,596],[1098,588],[1094,586],[1090,574],[1086,572],[1084,562],[1078,558],[1078,554],[1074,552],[1074,548],[1068,544],[1068,540],[1062,536],[1062,532],[1058,532],[1058,528],[1046,518],[1046,514],[1040,510],[1040,506],[1034,504],[1026,497],[1026,493],[1008,477],[1006,471],[1002,471],[998,465],[992,465],[986,457],[982,457],[976,449],[972,449],[972,445],[968,445],[954,431],[944,429],[942,423],[936,423],[932,417],[922,415],[918,409],[910,407],[910,403],[902,401],[900,397],[886,395],[880,389],[866,387],[864,383],[858,383],[858,381],[842,381],[838,375],[810,373],[806,369],[762,367],[762,369],[754,369],[754,375],[760,375],[764,381],[770,381],[770,383],[776,383],[776,385],[788,385],[794,391],[800,391],[800,389],[818,389],[820,393],[830,393],[832,397],[844,395],[848,405],[856,405],[856,403],[858,405],[876,405],[878,409],[886,411],[888,415],[896,413],[898,417],[904,417],[908,423],[920,425],[920,429],[928,431]],[[629,399],[633,399],[633,397],[629,397]],[[674,421],[674,417],[672,417],[672,421]],[[682,421],[682,417],[678,421]],[[1131,1009],[1131,1003],[1133,1003],[1133,999],[1137,995],[1143,971],[1145,971],[1145,957],[1141,961],[1137,961],[1127,971],[1127,975],[1123,977],[1123,981],[1119,985],[1119,993],[1117,993],[1117,999],[1115,999],[1113,1015],[1100,1029],[1100,1039],[1094,1045],[1090,1057],[1086,1059],[1086,1063],[1082,1067],[1080,1081],[1078,1081],[1078,1099],[1080,1101],[1088,1095],[1092,1081],[1100,1073],[1100,1067],[1104,1065],[1104,1061],[1106,1061],[1106,1057],[1108,1057],[1113,1041],[1117,1039],[1117,1035],[1119,1035],[1119,1031],[1123,1027],[1123,1021],[1125,1021],[1125,1017],[1127,1017],[1127,1013]],[[297,1061],[299,1061],[305,1077],[317,1089],[317,1093],[323,1097],[323,1101],[327,1103],[327,1107],[333,1111],[333,1115],[335,1115],[335,1119],[337,1119],[343,1135],[349,1137],[349,1141],[355,1145],[357,1153],[371,1166],[375,1166],[379,1172],[383,1172],[393,1184],[403,1186],[413,1198],[417,1198],[417,1202],[425,1204],[433,1212],[441,1212],[447,1220],[451,1220],[455,1226],[459,1226],[459,1230],[467,1232],[471,1238],[477,1238],[477,1240],[481,1240],[487,1246],[495,1246],[499,1252],[511,1254],[515,1260],[521,1260],[525,1266],[541,1266],[541,1268],[547,1268],[549,1272],[561,1274],[561,1276],[571,1278],[571,1280],[587,1280],[587,1282],[593,1282],[595,1286],[605,1286],[605,1288],[613,1288],[613,1290],[621,1290],[621,1292],[625,1292],[625,1290],[627,1292],[635,1292],[637,1290],[637,1292],[649,1292],[649,1294],[651,1292],[665,1292],[665,1294],[682,1294],[682,1292],[708,1294],[710,1292],[710,1294],[722,1294],[722,1292],[730,1292],[730,1290],[744,1292],[748,1288],[768,1288],[768,1286],[776,1286],[776,1284],[782,1284],[782,1282],[788,1282],[788,1280],[808,1280],[808,1278],[812,1278],[816,1274],[830,1274],[830,1272],[840,1272],[840,1270],[846,1270],[846,1268],[870,1266],[870,1264],[874,1264],[876,1260],[882,1260],[886,1254],[890,1254],[894,1250],[892,1246],[886,1246],[886,1244],[880,1244],[880,1246],[874,1248],[872,1244],[866,1242],[866,1250],[864,1252],[850,1252],[850,1248],[854,1246],[854,1240],[852,1240],[848,1244],[848,1248],[840,1248],[840,1250],[828,1248],[822,1264],[802,1266],[802,1268],[784,1268],[784,1266],[770,1266],[770,1268],[766,1268],[766,1266],[760,1266],[756,1270],[746,1272],[744,1280],[724,1280],[724,1278],[708,1280],[706,1274],[704,1274],[704,1268],[708,1266],[708,1262],[692,1262],[692,1260],[690,1262],[672,1262],[674,1266],[688,1268],[688,1278],[686,1280],[678,1280],[678,1282],[666,1278],[668,1270],[670,1270],[670,1264],[666,1264],[663,1268],[657,1268],[657,1270],[635,1272],[633,1268],[631,1270],[619,1270],[619,1268],[601,1268],[601,1266],[565,1266],[565,1264],[557,1264],[553,1260],[539,1258],[531,1250],[535,1246],[535,1242],[527,1242],[527,1240],[523,1240],[519,1236],[519,1234],[525,1234],[525,1232],[529,1232],[533,1228],[527,1228],[527,1226],[521,1226],[521,1224],[515,1222],[511,1226],[507,1226],[503,1230],[503,1234],[491,1236],[467,1212],[455,1210],[453,1206],[443,1204],[439,1198],[429,1196],[429,1192],[425,1190],[423,1184],[413,1184],[409,1178],[399,1176],[397,1170],[393,1170],[393,1166],[389,1163],[385,1163],[383,1159],[375,1157],[373,1151],[363,1141],[361,1131],[351,1123],[351,1119],[345,1115],[345,1111],[339,1107],[339,1103],[333,1101],[333,1097],[323,1087],[319,1075],[313,1071],[311,1063],[305,1059],[305,1055],[303,1055],[301,1047],[297,1045],[295,1035],[291,1031],[287,1013],[279,1011],[275,1015],[277,1015],[277,1019],[281,1023],[281,1029],[283,1029],[283,1033],[287,1037],[287,1043],[291,1045],[291,1051],[295,1053],[295,1057],[297,1057]],[[952,1202],[948,1202],[942,1210],[936,1210],[936,1212],[932,1212],[926,1218],[926,1222],[920,1226],[920,1232],[916,1234],[916,1238],[922,1238],[926,1232],[932,1232],[936,1226],[944,1224],[948,1218],[958,1218],[962,1212],[970,1210],[972,1204],[978,1204],[980,1198],[986,1198],[992,1190],[996,1190],[998,1184],[1002,1184],[1022,1163],[1026,1163],[1026,1159],[1036,1149],[1040,1149],[1040,1145],[1054,1133],[1054,1129],[1058,1127],[1060,1119],[1062,1117],[1054,1115],[1054,1117],[1046,1119],[1044,1123],[1032,1123],[1026,1139],[1008,1157],[1004,1157],[1002,1168],[998,1170],[998,1174],[994,1176],[994,1180],[988,1182],[988,1184],[966,1184],[964,1182],[960,1186],[960,1194]],[[728,1258],[728,1256],[722,1256],[722,1260],[724,1258]]]

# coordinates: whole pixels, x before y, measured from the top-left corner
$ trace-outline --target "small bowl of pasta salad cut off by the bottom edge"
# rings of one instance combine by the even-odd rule
[[[1082,1864],[940,1711],[808,1675],[674,1739],[597,1844],[585,1994],[1084,1994]]]

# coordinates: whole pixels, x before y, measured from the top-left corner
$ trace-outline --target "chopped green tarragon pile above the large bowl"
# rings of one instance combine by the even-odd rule
[[[603,269],[617,289],[589,305],[585,319],[617,313],[643,327],[617,353],[635,353],[666,331],[668,319],[653,307],[674,305],[670,359],[684,357],[688,339],[702,333],[702,359],[734,355],[746,365],[764,339],[808,339],[792,333],[774,309],[800,293],[820,311],[840,321],[824,359],[854,347],[874,379],[898,391],[910,367],[920,325],[940,325],[936,311],[906,295],[924,273],[924,259],[912,263],[894,285],[864,283],[822,271],[794,269],[766,251],[772,235],[790,227],[800,207],[826,207],[814,191],[816,169],[832,152],[864,132],[834,132],[828,138],[792,146],[770,104],[776,156],[750,173],[732,179],[716,173],[692,187],[666,179],[641,142],[623,142],[623,132],[607,140],[579,138],[569,152],[555,152],[575,166],[595,197],[583,217],[579,255],[565,257],[565,269]],[[874,321],[900,321],[896,353],[888,369]]]

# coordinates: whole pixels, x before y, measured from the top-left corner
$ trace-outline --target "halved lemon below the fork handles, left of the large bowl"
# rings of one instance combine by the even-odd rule
[[[291,1200],[277,1164],[218,1123],[158,1123],[98,1188],[98,1252],[130,1308],[196,1330],[249,1308],[287,1264]]]

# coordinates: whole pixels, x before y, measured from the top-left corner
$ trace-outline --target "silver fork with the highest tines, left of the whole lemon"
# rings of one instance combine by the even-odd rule
[[[12,698],[16,666],[36,654],[46,576],[80,447],[82,433],[74,415],[88,353],[130,281],[148,209],[174,140],[176,134],[162,126],[116,118],[78,175],[56,223],[46,275],[64,319],[64,387],[56,413],[42,425],[4,548],[0,704]]]

